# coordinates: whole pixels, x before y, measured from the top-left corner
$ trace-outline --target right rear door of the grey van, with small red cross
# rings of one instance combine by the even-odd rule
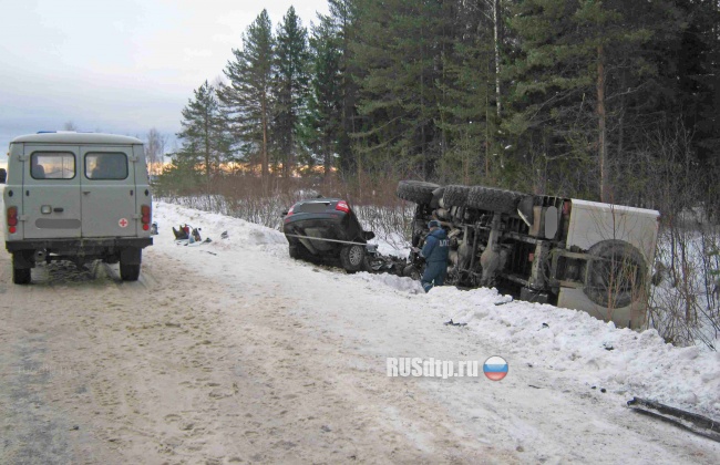
[[[83,237],[136,236],[132,145],[80,147]]]

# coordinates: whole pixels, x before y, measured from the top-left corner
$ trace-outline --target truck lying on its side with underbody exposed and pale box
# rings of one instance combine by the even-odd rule
[[[619,327],[645,324],[658,211],[416,180],[401,180],[398,197],[416,204],[413,247],[431,219],[448,232],[446,285],[496,287]],[[420,276],[414,252],[410,261],[404,273]]]

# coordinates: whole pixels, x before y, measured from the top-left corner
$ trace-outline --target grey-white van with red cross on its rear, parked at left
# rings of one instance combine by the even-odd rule
[[[140,276],[151,246],[152,195],[143,142],[96,133],[38,133],[10,142],[3,192],[12,279],[31,280],[39,262],[120,262]]]

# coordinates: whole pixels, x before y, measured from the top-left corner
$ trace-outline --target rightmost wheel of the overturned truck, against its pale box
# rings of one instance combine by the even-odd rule
[[[588,269],[583,291],[593,302],[616,309],[640,298],[647,266],[637,248],[624,240],[609,239],[595,244],[588,255],[596,259]]]

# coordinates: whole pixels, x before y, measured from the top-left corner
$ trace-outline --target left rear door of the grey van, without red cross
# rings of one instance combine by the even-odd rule
[[[79,147],[24,144],[22,205],[25,239],[81,235]]]

